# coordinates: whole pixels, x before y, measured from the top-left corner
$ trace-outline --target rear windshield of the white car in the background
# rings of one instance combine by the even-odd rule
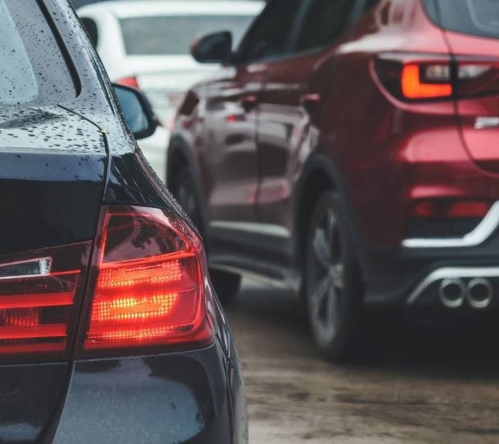
[[[251,15],[177,15],[121,19],[125,51],[129,56],[180,56],[189,54],[195,37],[231,31],[237,44]]]

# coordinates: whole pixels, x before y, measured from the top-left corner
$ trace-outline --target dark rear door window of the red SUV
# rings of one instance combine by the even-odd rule
[[[296,50],[308,51],[332,44],[347,28],[354,4],[353,0],[313,0]]]

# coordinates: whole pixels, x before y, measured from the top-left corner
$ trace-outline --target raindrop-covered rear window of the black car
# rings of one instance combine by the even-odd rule
[[[0,0],[0,105],[54,105],[76,91],[34,0]]]

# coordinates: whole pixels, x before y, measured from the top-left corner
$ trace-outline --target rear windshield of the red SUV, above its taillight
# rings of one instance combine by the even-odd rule
[[[499,38],[499,0],[426,0],[433,1],[437,22],[449,31]]]

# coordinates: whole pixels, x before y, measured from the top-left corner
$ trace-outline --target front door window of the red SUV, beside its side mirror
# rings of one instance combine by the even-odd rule
[[[238,60],[250,62],[285,55],[290,35],[301,8],[308,1],[274,0],[246,35],[238,51]]]

